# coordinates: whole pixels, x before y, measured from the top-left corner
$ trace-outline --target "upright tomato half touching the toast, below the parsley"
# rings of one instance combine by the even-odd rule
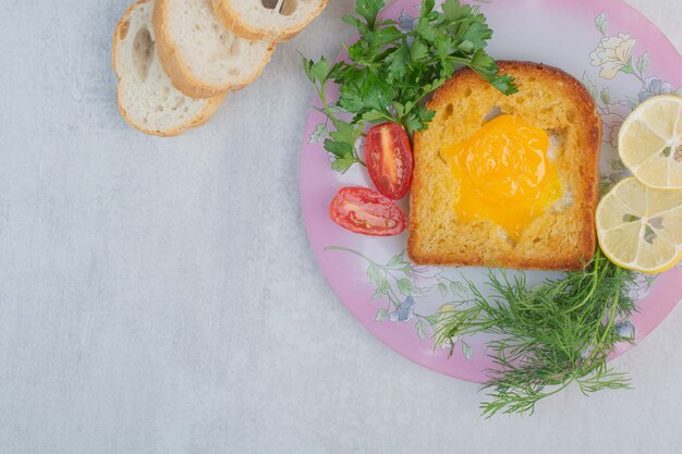
[[[379,193],[400,200],[412,184],[412,146],[398,123],[382,123],[367,133],[366,160],[369,176]]]

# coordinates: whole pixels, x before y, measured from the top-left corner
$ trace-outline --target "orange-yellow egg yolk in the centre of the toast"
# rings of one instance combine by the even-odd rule
[[[549,161],[549,136],[503,114],[443,150],[456,182],[454,210],[464,222],[488,220],[517,242],[523,231],[561,197]]]

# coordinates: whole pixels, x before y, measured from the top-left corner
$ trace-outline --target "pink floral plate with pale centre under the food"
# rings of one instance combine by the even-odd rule
[[[563,69],[582,79],[604,119],[602,184],[625,175],[614,149],[623,118],[640,102],[663,93],[680,94],[682,59],[663,34],[619,0],[480,0],[495,36],[489,52],[498,59],[529,60]],[[411,27],[421,1],[398,0],[381,14]],[[339,20],[341,20],[339,17]],[[341,45],[341,44],[339,44]],[[341,57],[342,58],[342,57]],[[329,99],[338,99],[337,87]],[[315,255],[341,302],[385,344],[429,369],[475,382],[492,367],[483,336],[434,348],[439,309],[466,294],[465,279],[483,283],[480,268],[417,267],[407,260],[406,234],[379,238],[350,233],[329,219],[329,204],[349,185],[374,187],[364,168],[331,170],[321,142],[327,118],[309,110],[301,152],[301,199]],[[406,206],[403,201],[403,208]],[[557,275],[528,272],[533,283]],[[640,311],[618,329],[644,339],[682,298],[682,263],[653,278],[642,277]],[[630,347],[620,345],[613,357]]]

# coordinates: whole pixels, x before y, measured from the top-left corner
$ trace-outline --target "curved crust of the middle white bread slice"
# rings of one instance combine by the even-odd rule
[[[156,46],[161,68],[170,77],[173,86],[191,98],[214,98],[223,95],[226,91],[244,88],[263,73],[275,50],[275,42],[271,42],[265,59],[260,62],[252,77],[242,84],[210,85],[199,81],[192,74],[187,64],[183,61],[180,49],[170,38],[168,29],[168,0],[155,0],[151,26],[157,40]]]

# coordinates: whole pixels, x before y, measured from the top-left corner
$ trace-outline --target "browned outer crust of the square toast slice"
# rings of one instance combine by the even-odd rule
[[[418,216],[411,216],[407,237],[407,255],[417,265],[434,266],[495,266],[515,269],[538,270],[580,270],[594,256],[597,245],[595,232],[595,210],[598,201],[599,184],[599,151],[601,146],[601,118],[597,112],[597,106],[589,91],[573,76],[568,73],[545,64],[521,61],[500,61],[500,72],[509,73],[517,77],[533,77],[546,79],[550,77],[553,83],[562,84],[563,93],[568,93],[569,100],[576,107],[580,118],[577,119],[585,127],[581,128],[584,137],[585,149],[583,150],[583,167],[586,169],[581,179],[576,193],[582,195],[584,207],[580,211],[581,231],[575,238],[574,250],[556,250],[556,254],[527,257],[523,254],[509,254],[497,257],[495,260],[486,260],[482,256],[461,256],[452,259],[444,254],[428,254],[421,250],[421,244],[426,241],[422,237],[423,226]],[[473,84],[473,85],[472,85]],[[428,102],[428,108],[438,111],[451,102],[456,96],[458,87],[476,87],[487,84],[472,70],[463,69],[446,82]],[[475,88],[474,88],[475,90]],[[474,95],[475,96],[475,91]],[[419,151],[424,146],[425,133],[416,133],[414,136],[415,171],[410,198],[411,213],[416,213],[416,206],[421,197],[425,196],[426,175],[419,171]],[[577,170],[575,170],[577,171]]]

